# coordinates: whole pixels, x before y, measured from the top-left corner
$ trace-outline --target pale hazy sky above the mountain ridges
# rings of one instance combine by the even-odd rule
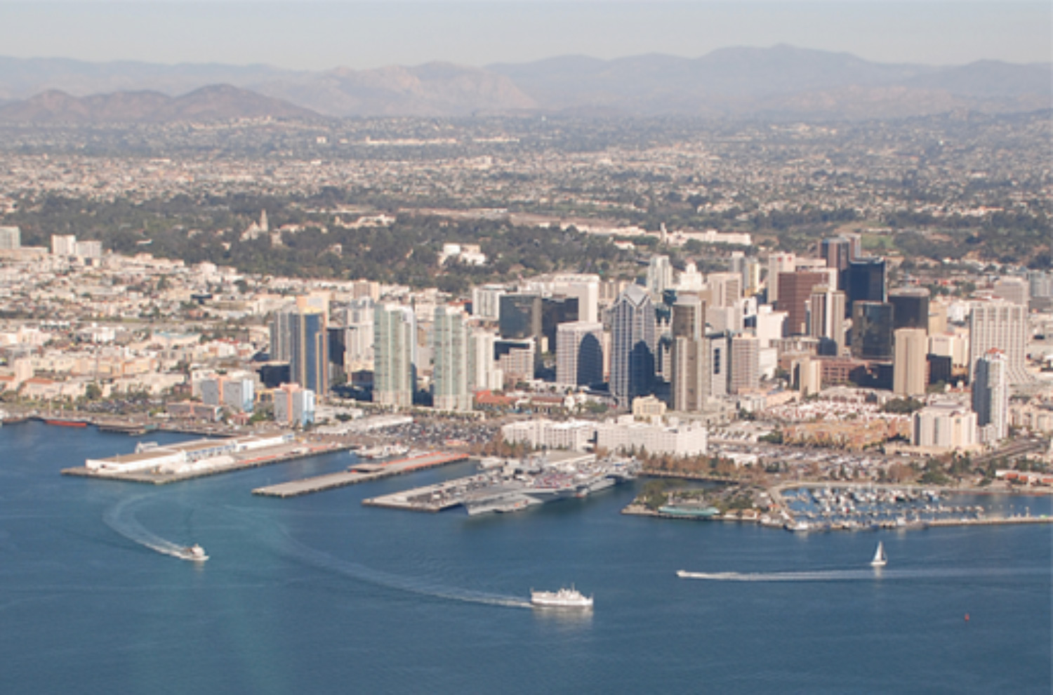
[[[702,56],[790,43],[881,62],[1053,60],[1053,3],[8,2],[0,56],[269,63],[292,68],[470,65],[557,55]]]

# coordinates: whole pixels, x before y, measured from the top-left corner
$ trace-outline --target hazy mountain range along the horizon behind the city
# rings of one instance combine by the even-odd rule
[[[887,64],[787,45],[694,59],[563,56],[323,72],[0,58],[0,120],[22,122],[529,113],[854,119],[1051,105],[1049,63]]]

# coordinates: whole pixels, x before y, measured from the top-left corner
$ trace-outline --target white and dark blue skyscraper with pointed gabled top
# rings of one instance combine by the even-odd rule
[[[654,303],[642,287],[629,285],[612,307],[611,394],[622,405],[651,394],[657,346]]]

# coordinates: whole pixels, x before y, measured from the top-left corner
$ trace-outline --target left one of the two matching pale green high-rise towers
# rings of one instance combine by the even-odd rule
[[[417,388],[414,370],[417,321],[413,310],[401,304],[377,304],[373,331],[373,402],[412,405]]]

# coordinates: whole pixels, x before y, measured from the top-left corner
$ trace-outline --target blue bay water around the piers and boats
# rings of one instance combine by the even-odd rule
[[[0,429],[0,693],[1051,690],[1050,525],[796,535],[623,516],[628,486],[475,518],[360,503],[470,464],[250,494],[346,454],[157,488],[59,475],[135,441]],[[212,559],[158,552],[193,542]],[[523,608],[572,582],[591,614]]]

